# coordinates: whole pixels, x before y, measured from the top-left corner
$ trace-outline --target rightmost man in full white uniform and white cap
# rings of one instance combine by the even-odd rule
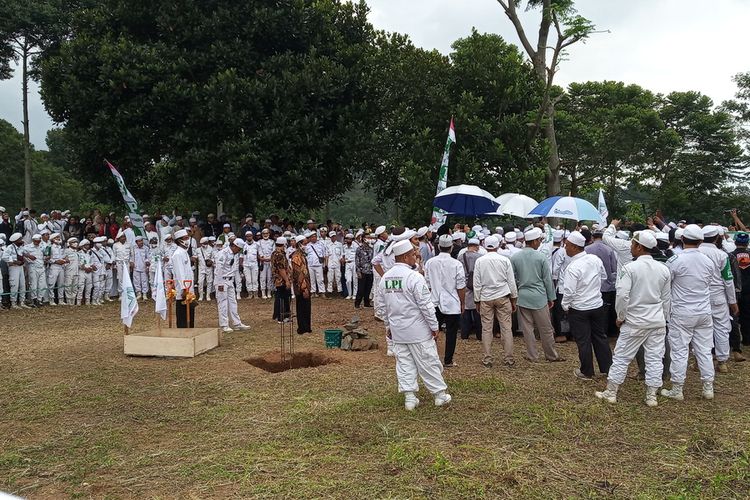
[[[718,226],[703,227],[703,243],[698,250],[711,259],[714,264],[714,272],[711,274],[711,317],[714,330],[714,350],[717,371],[726,373],[729,371],[727,360],[729,359],[729,332],[732,330],[732,322],[729,316],[738,316],[740,311],[737,306],[737,294],[734,291],[734,276],[729,255],[716,246],[719,237]]]

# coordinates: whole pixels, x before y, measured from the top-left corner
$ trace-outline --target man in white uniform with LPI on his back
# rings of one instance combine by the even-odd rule
[[[419,405],[418,378],[434,396],[435,406],[451,401],[443,379],[443,365],[438,356],[435,338],[438,322],[424,277],[413,271],[417,263],[414,246],[407,240],[393,245],[396,264],[380,280],[382,300],[379,316],[393,341],[396,357],[396,378],[399,392],[404,394],[404,407],[413,410]]]

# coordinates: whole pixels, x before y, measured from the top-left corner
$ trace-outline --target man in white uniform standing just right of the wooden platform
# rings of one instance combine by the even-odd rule
[[[237,312],[237,293],[234,285],[236,260],[245,248],[245,242],[235,238],[216,255],[216,305],[219,308],[219,328],[224,333],[235,330],[248,330]],[[231,326],[230,326],[231,325]]]

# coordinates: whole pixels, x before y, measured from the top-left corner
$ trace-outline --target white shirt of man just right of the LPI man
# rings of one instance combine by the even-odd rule
[[[432,303],[443,314],[461,314],[458,290],[466,288],[464,266],[449,253],[440,253],[424,265]]]

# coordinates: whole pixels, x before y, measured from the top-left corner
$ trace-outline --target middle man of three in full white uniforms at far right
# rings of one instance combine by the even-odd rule
[[[672,388],[660,394],[682,401],[690,346],[698,363],[703,382],[703,397],[714,397],[714,363],[711,357],[713,320],[711,316],[711,281],[716,272],[714,262],[698,246],[703,231],[695,224],[682,233],[684,250],[667,261],[672,276],[672,313],[669,319],[669,375]]]

